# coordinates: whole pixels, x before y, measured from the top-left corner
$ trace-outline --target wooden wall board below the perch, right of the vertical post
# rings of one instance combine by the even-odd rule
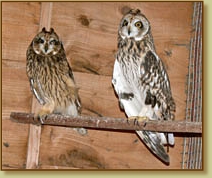
[[[181,146],[182,138],[176,138]],[[181,147],[170,148],[165,166],[142,144],[134,132],[88,130],[85,136],[66,127],[42,129],[40,164],[83,169],[179,169]],[[154,164],[153,164],[154,162]]]

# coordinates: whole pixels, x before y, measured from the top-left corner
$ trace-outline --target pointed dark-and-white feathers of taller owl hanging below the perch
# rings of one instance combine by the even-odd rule
[[[164,149],[160,138],[155,132],[150,131],[136,131],[146,146],[164,163],[169,164],[169,155]]]

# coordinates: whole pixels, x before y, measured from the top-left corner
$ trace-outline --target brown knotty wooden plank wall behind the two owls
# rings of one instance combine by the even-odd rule
[[[25,61],[26,49],[42,26],[53,27],[64,43],[83,114],[125,117],[111,75],[117,28],[129,8],[139,8],[149,19],[157,53],[170,76],[176,119],[185,118],[193,2],[3,2],[2,169],[26,168],[27,155],[32,154],[28,150],[31,126],[11,122],[9,116],[39,107],[29,88]],[[38,142],[37,168],[181,168],[182,135],[176,135],[170,148],[169,166],[155,158],[134,132],[89,129],[81,136],[70,128],[42,126]]]

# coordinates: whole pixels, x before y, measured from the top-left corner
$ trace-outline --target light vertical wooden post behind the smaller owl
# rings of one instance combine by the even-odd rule
[[[42,2],[41,3],[41,16],[40,16],[40,28],[43,27],[46,30],[50,29],[51,25],[51,13],[53,3]],[[32,100],[32,113],[35,113],[40,108],[36,98],[33,96]],[[36,169],[39,167],[39,152],[40,152],[40,137],[41,137],[41,126],[30,124],[29,137],[28,137],[28,148],[27,148],[27,160],[26,169]]]

